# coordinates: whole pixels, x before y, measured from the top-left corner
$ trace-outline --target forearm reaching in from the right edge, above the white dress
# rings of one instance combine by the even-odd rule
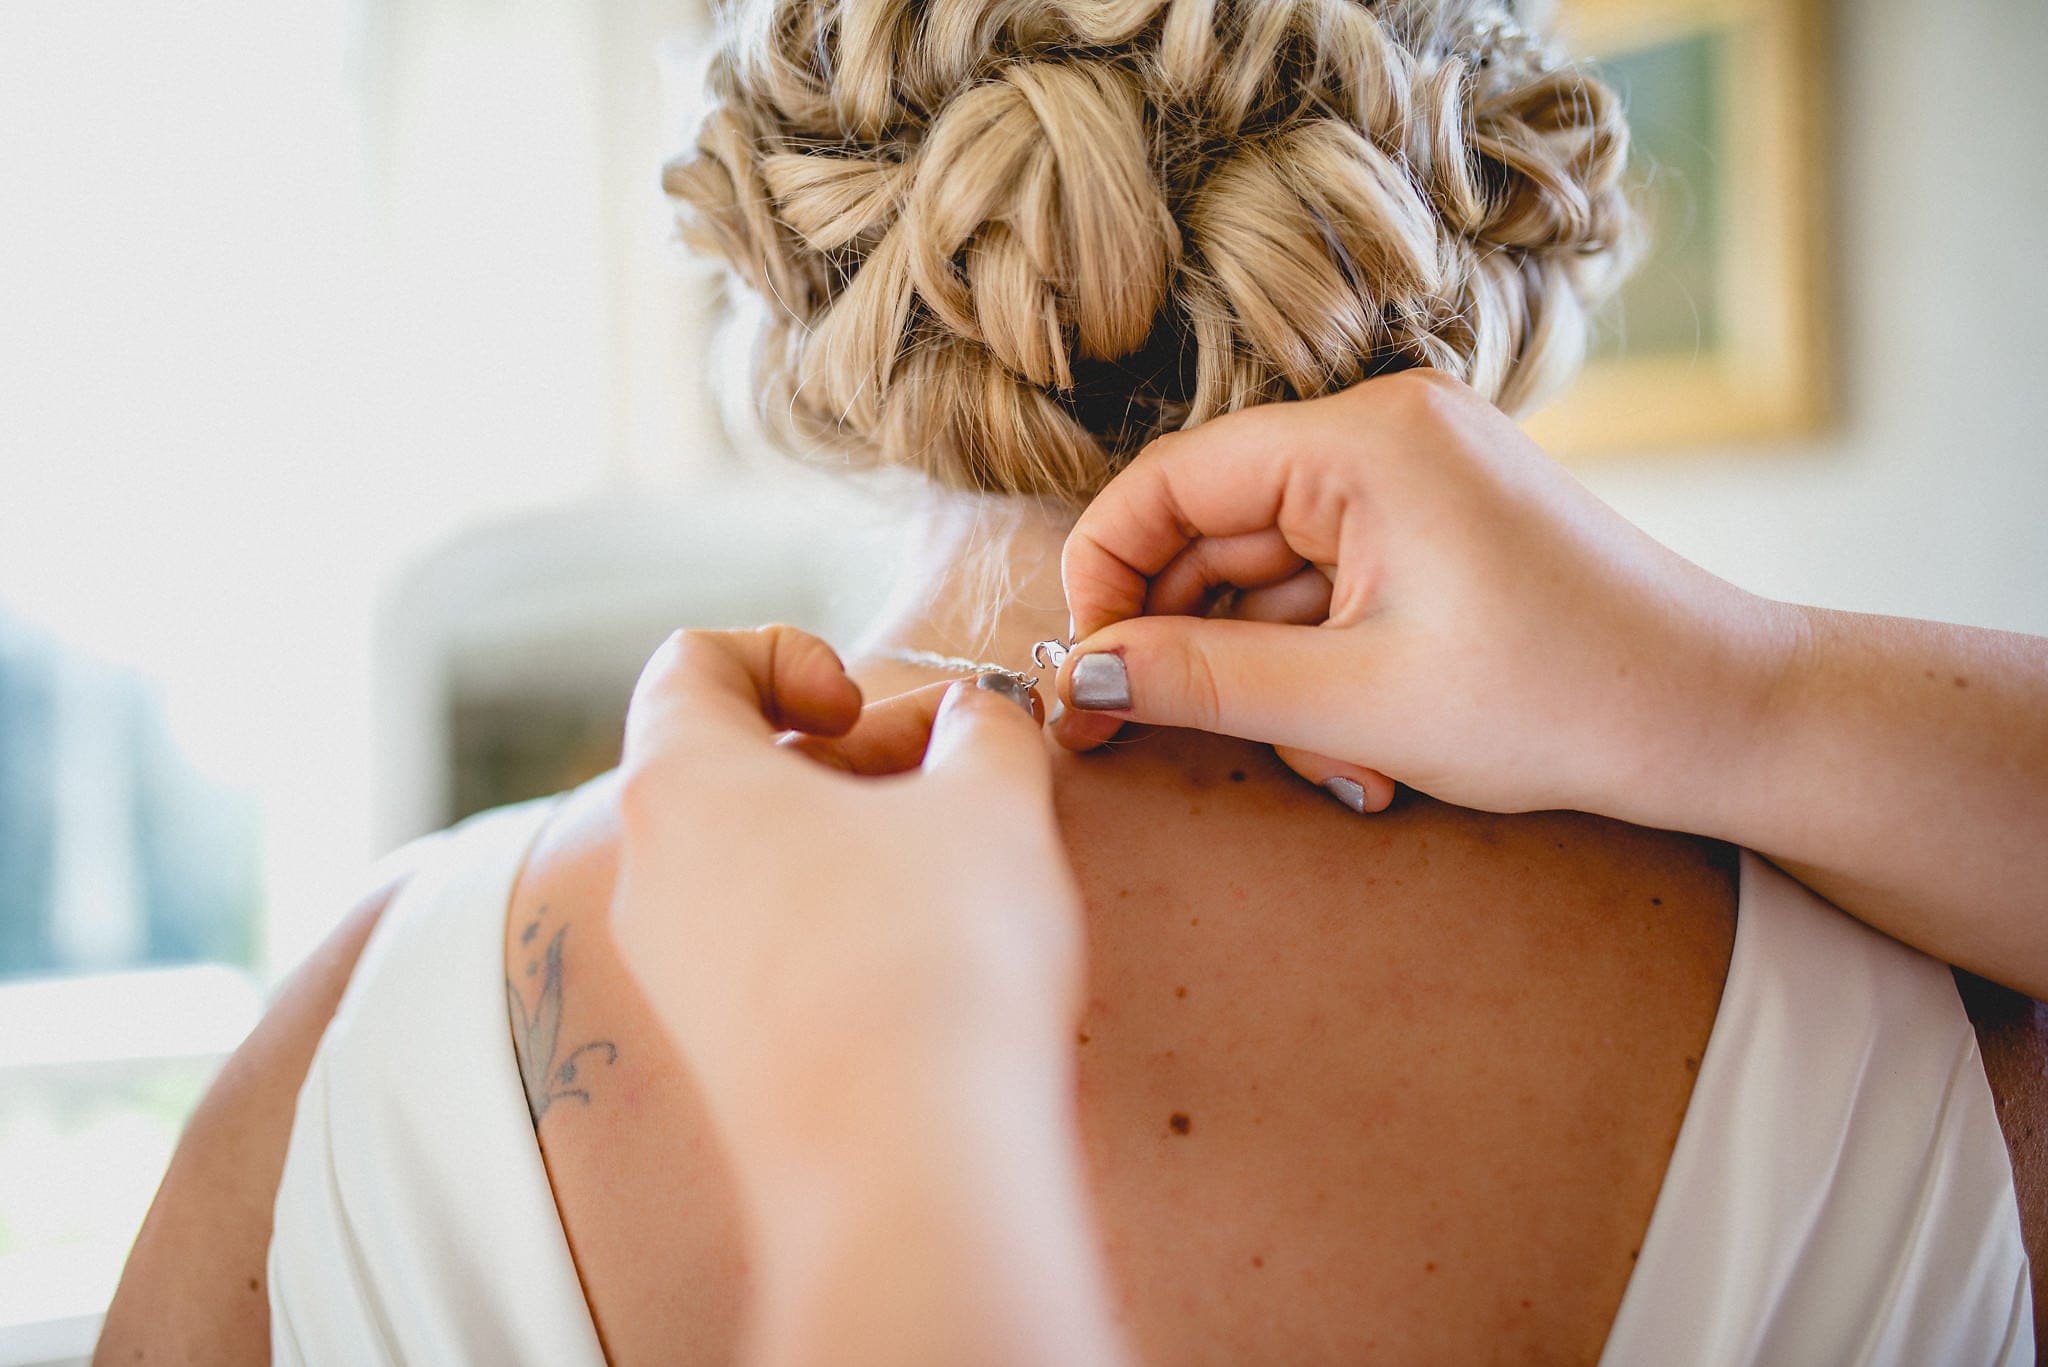
[[[1774,687],[1673,793],[1872,926],[2048,996],[2048,639],[1784,609]]]

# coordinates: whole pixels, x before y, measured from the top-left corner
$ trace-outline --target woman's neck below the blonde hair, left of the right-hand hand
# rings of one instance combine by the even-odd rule
[[[889,605],[848,664],[903,687],[918,682],[915,666],[897,660],[887,678],[879,668],[899,652],[1038,672],[1032,646],[1067,633],[1059,551],[1071,527],[1073,510],[1059,504],[934,494],[911,525],[911,549]]]

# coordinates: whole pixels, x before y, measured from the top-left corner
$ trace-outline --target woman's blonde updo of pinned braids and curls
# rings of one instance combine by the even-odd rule
[[[1083,504],[1159,432],[1565,381],[1620,100],[1497,0],[743,0],[664,184],[793,447]]]

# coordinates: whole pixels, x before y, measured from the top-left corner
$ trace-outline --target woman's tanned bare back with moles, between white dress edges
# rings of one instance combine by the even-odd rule
[[[1079,1115],[1141,1355],[1595,1359],[1720,1000],[1729,851],[1425,799],[1360,820],[1186,732],[1057,764]],[[559,935],[561,1041],[616,1049],[541,1144],[612,1361],[729,1361],[737,1209],[606,939],[612,859],[600,783],[510,908],[514,992]]]

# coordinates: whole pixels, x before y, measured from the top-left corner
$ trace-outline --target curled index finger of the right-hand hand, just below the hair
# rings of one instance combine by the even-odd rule
[[[1151,578],[1202,537],[1280,527],[1303,560],[1335,560],[1333,525],[1284,525],[1290,482],[1315,478],[1298,455],[1315,441],[1311,410],[1321,402],[1210,418],[1159,437],[1118,471],[1075,521],[1061,553],[1073,639],[1141,615]]]

